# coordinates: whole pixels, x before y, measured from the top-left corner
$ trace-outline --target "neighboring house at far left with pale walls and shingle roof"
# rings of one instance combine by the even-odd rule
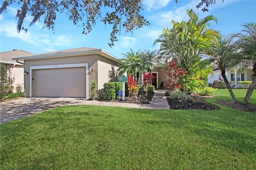
[[[17,84],[24,84],[24,68],[23,63],[17,63],[12,58],[34,55],[33,53],[23,50],[13,50],[0,53],[0,63],[6,65],[8,69],[8,77],[14,77],[14,90]]]

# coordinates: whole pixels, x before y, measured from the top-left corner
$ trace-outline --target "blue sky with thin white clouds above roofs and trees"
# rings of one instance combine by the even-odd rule
[[[2,4],[1,0],[1,4]],[[57,15],[55,30],[42,29],[42,23],[36,22],[28,28],[28,32],[16,31],[16,8],[9,6],[7,13],[0,16],[0,51],[12,51],[22,49],[31,53],[45,53],[72,49],[78,47],[92,47],[104,49],[112,55],[122,58],[122,53],[149,49],[159,49],[159,44],[153,46],[154,40],[162,33],[163,29],[172,28],[171,21],[181,22],[189,19],[187,9],[194,9],[199,18],[207,15],[214,15],[218,18],[218,24],[211,22],[211,28],[219,30],[222,34],[232,34],[242,30],[241,24],[245,22],[256,22],[256,0],[219,0],[215,5],[210,6],[208,12],[196,9],[200,0],[144,0],[142,14],[151,23],[138,30],[133,35],[121,30],[118,41],[114,47],[109,47],[110,32],[112,26],[104,25],[100,21],[92,31],[82,34],[82,26],[74,25],[66,15]],[[32,18],[27,17],[24,26],[28,26]]]

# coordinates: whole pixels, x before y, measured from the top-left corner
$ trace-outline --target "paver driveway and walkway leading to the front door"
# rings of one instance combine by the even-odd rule
[[[89,101],[77,98],[29,97],[0,103],[0,123],[6,123],[30,115],[66,105],[98,105],[139,109],[170,109],[164,90],[157,90],[149,105],[121,102]]]

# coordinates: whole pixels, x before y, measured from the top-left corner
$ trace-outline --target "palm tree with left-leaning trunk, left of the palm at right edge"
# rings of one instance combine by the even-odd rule
[[[221,76],[226,84],[226,87],[228,88],[228,91],[233,101],[237,102],[236,97],[226,77],[226,68],[232,66],[232,58],[235,58],[237,56],[237,47],[234,45],[233,40],[234,36],[222,36],[222,38],[218,39],[218,42],[212,43],[212,45],[208,47],[208,52],[206,54],[208,57],[214,59],[214,61],[218,65],[221,71]]]

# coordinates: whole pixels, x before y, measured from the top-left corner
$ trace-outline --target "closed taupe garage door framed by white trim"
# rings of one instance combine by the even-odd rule
[[[85,78],[85,67],[35,70],[35,96],[86,98]]]

